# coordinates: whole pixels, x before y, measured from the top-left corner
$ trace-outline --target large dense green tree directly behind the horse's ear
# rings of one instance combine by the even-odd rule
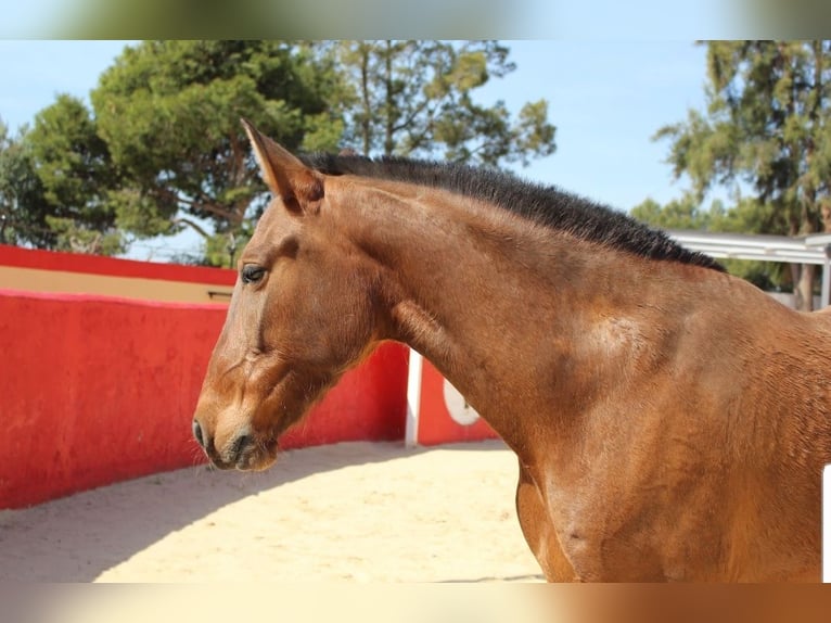
[[[124,180],[113,195],[119,225],[144,237],[190,226],[206,239],[218,237],[212,249],[233,247],[264,207],[240,116],[289,149],[335,149],[343,125],[327,104],[336,79],[310,43],[144,41],[127,48],[91,94],[100,135]],[[213,259],[218,263],[217,254]]]

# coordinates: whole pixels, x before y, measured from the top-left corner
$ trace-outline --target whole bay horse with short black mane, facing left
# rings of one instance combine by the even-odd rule
[[[243,123],[273,198],[193,420],[217,467],[269,467],[345,370],[398,341],[516,454],[549,581],[820,580],[831,316],[553,188],[295,156]]]

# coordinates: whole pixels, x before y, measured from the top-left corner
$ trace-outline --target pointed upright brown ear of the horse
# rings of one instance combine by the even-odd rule
[[[323,180],[318,173],[260,132],[251,122],[241,120],[263,179],[269,190],[280,196],[287,209],[306,212],[310,204],[323,199]]]

